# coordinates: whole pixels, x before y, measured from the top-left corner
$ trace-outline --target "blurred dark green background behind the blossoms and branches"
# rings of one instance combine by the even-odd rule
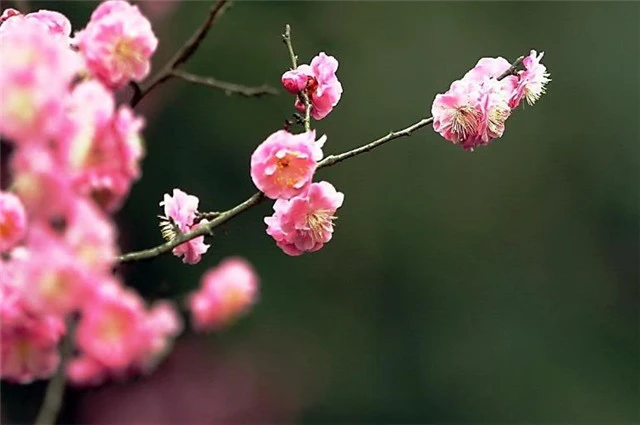
[[[211,4],[139,3],[160,39],[156,69]],[[32,2],[75,28],[95,5]],[[180,300],[241,255],[261,300],[222,333],[187,332],[150,377],[70,391],[60,421],[638,423],[640,5],[237,1],[185,69],[277,86],[285,23],[302,62],[340,61],[342,100],[315,125],[325,153],[428,116],[482,56],[545,51],[553,81],[473,153],[426,128],[319,171],[346,195],[320,252],[284,255],[265,202],[220,228],[198,265],[124,268],[148,299]],[[203,210],[251,195],[249,157],[292,103],[181,81],[146,98],[144,176],[118,215],[125,250],[160,242],[158,202],[173,188]],[[31,421],[43,390],[3,383],[5,422]]]

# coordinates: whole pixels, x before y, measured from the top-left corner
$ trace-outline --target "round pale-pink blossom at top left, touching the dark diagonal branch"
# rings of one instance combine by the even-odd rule
[[[75,43],[89,71],[110,88],[119,88],[149,75],[158,39],[138,6],[108,0],[94,10]]]

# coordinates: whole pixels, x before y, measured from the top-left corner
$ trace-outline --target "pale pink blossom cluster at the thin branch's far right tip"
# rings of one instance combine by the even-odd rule
[[[524,70],[506,75],[511,64],[502,57],[482,58],[465,76],[433,101],[433,129],[465,150],[502,137],[505,122],[522,99],[533,105],[550,81],[540,63],[544,53],[532,50],[522,61]]]

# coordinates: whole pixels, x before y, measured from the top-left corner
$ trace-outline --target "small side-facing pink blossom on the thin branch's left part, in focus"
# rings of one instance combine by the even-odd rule
[[[195,223],[196,211],[200,200],[193,195],[187,195],[180,189],[173,189],[173,195],[165,194],[160,206],[164,206],[164,217],[160,223],[162,236],[167,240],[176,237],[177,231],[187,233],[199,226],[205,225],[207,220]],[[204,236],[198,236],[173,249],[173,255],[183,257],[185,264],[196,264],[207,252],[209,245],[204,243]]]

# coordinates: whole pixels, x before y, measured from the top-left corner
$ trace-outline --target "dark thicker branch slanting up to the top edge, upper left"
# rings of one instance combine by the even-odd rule
[[[202,40],[206,37],[216,18],[222,15],[229,4],[229,0],[216,1],[216,3],[211,7],[211,10],[209,10],[209,14],[200,28],[193,33],[180,50],[176,52],[173,58],[171,58],[171,60],[162,67],[162,69],[151,79],[151,81],[149,81],[148,84],[138,92],[134,93],[131,101],[129,102],[131,107],[136,106],[142,98],[149,94],[151,90],[171,78],[173,76],[172,72],[189,60],[200,46],[200,43],[202,43]]]

